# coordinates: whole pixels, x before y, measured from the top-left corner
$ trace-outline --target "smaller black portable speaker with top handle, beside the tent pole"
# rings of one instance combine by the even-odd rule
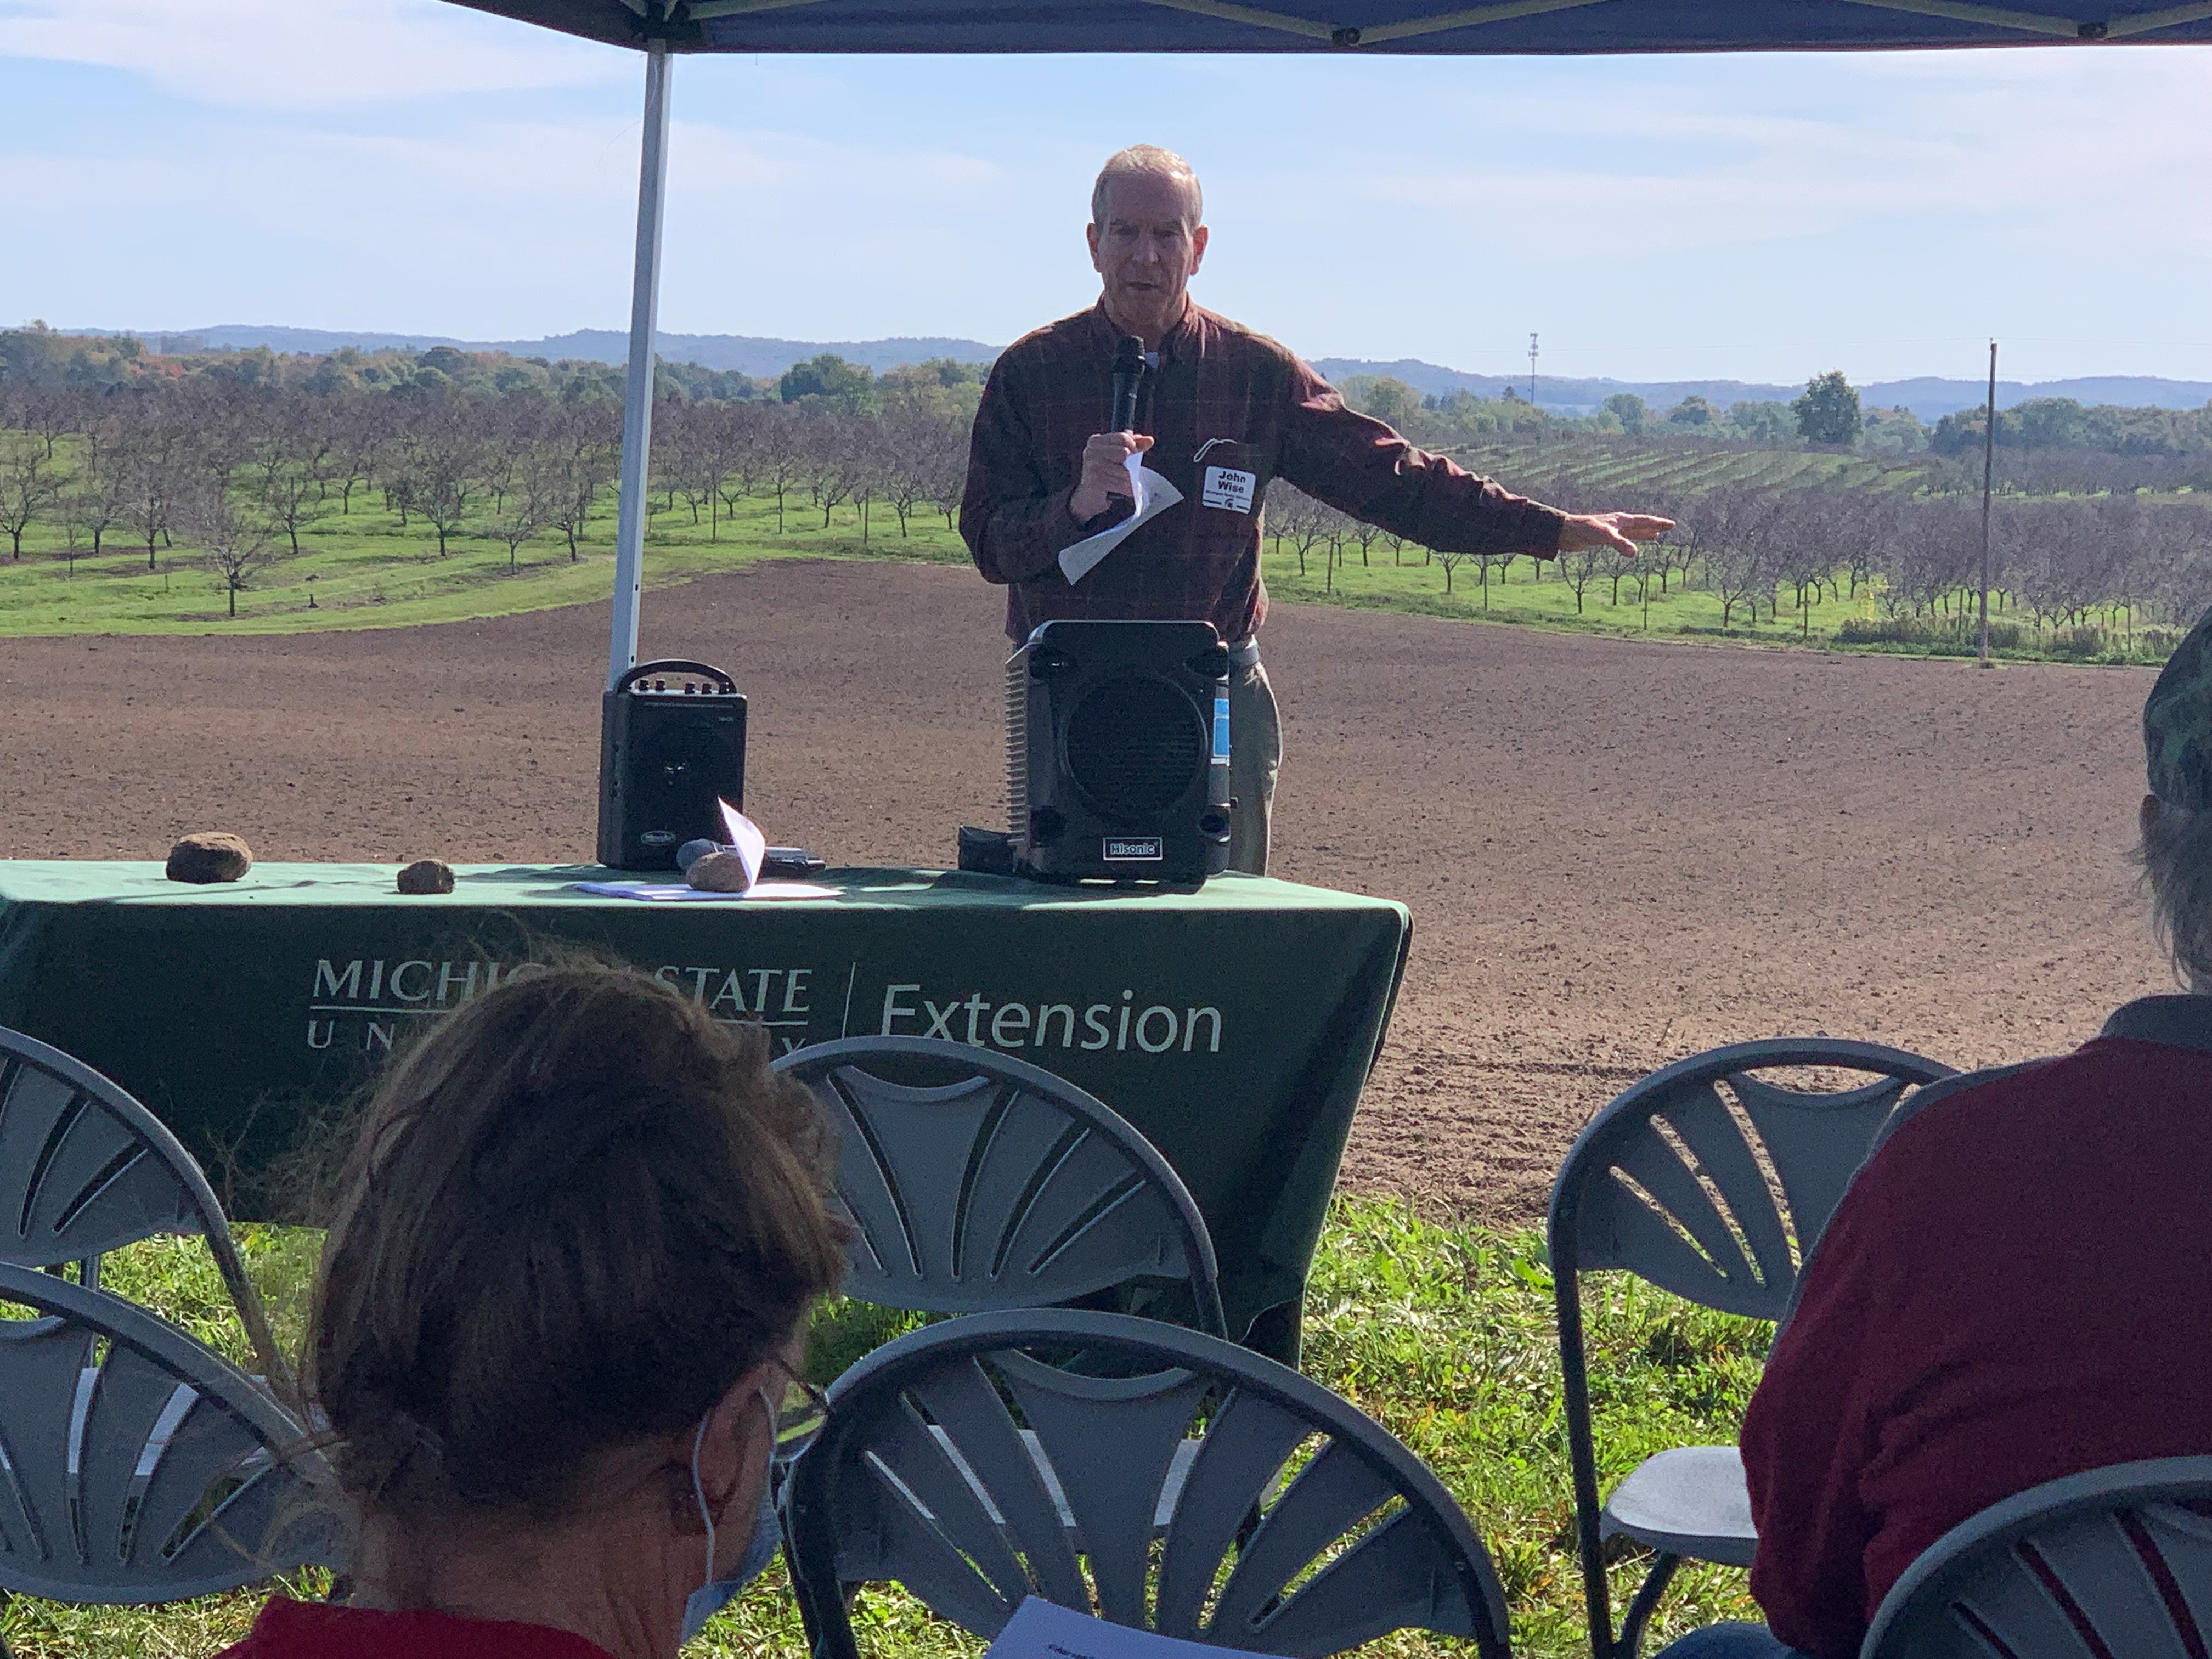
[[[723,838],[745,805],[745,699],[703,661],[648,661],[599,703],[599,863],[675,869],[677,847]]]

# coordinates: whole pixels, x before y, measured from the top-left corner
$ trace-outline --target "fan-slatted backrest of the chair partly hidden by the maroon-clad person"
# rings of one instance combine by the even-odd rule
[[[1778,1066],[1876,1082],[1809,1093],[1747,1075]],[[1781,1318],[1882,1121],[1909,1086],[1949,1075],[1902,1048],[1827,1037],[1741,1042],[1655,1071],[1559,1166],[1553,1272],[1626,1267],[1705,1307]]]

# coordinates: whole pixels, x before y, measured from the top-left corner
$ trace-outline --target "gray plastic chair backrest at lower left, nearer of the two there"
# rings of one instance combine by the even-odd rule
[[[0,1265],[0,1588],[153,1604],[327,1562],[321,1464],[252,1378],[102,1290]]]

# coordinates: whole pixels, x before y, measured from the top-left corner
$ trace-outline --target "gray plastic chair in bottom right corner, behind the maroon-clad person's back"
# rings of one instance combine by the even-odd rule
[[[2212,1458],[2154,1458],[1991,1504],[1905,1568],[1860,1659],[2203,1659],[2208,1502]]]

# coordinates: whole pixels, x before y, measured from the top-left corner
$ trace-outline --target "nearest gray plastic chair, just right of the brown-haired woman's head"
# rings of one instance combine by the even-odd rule
[[[783,1504],[814,1659],[858,1659],[847,1590],[883,1579],[980,1637],[1037,1595],[1287,1659],[1407,1626],[1506,1655],[1491,1557],[1420,1458],[1318,1383],[1148,1318],[978,1314],[887,1343],[832,1385]]]

